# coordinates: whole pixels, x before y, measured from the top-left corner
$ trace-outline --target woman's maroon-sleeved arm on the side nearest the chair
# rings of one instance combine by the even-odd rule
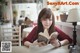
[[[27,37],[23,39],[23,45],[29,45],[33,43],[37,38],[37,27],[35,27]]]

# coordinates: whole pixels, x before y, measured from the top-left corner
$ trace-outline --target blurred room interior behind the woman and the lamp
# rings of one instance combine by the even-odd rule
[[[38,14],[42,8],[51,8],[58,28],[72,38],[73,27],[66,23],[68,12],[76,5],[48,5],[48,2],[80,2],[80,0],[0,0],[0,42],[10,40],[21,46],[22,40],[37,25]],[[67,32],[70,31],[70,32]],[[78,22],[77,31],[80,31]],[[77,33],[80,35],[80,33]]]

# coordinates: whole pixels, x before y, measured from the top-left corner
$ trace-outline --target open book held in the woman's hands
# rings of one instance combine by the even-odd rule
[[[48,44],[51,37],[57,38],[57,36],[58,32],[53,32],[51,35],[49,35],[48,30],[45,29],[44,32],[39,33],[38,42],[44,41],[46,44]]]

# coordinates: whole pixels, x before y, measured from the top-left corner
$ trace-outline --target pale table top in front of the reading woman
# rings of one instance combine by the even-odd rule
[[[35,48],[36,47],[27,48],[25,46],[13,46],[12,52],[10,53],[69,53],[68,45],[61,46],[59,48],[52,48],[50,45],[38,49]]]

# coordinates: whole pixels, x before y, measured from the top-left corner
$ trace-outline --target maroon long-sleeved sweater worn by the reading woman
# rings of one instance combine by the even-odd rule
[[[29,35],[23,39],[23,43],[25,41],[29,41],[31,43],[34,42],[38,38],[37,30],[38,30],[37,26],[34,27],[33,30],[29,33]],[[66,35],[63,31],[61,31],[57,27],[55,27],[55,30],[59,33],[58,39],[60,41],[67,39],[70,43],[72,42],[72,39],[68,35]]]

